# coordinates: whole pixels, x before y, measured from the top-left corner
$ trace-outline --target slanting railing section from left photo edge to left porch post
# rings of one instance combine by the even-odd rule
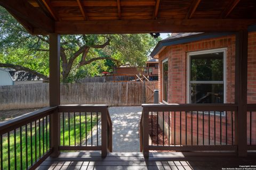
[[[35,169],[53,151],[50,115],[46,107],[0,124],[0,168]]]

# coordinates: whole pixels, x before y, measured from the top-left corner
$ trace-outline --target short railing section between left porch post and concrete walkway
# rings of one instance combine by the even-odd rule
[[[112,151],[108,105],[60,105],[59,113],[60,150],[101,150],[103,157]]]

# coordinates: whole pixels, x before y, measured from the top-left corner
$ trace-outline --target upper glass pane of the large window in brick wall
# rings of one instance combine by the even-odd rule
[[[190,81],[223,81],[223,52],[190,56]]]

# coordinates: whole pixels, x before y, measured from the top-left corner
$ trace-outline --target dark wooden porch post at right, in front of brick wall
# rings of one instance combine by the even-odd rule
[[[247,156],[247,52],[248,31],[236,33],[236,60],[235,60],[235,103],[238,113],[235,117],[235,141],[238,146],[238,156]]]

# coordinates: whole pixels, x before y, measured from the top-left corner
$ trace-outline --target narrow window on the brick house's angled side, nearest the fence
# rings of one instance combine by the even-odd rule
[[[168,101],[168,60],[163,60],[163,101]]]

